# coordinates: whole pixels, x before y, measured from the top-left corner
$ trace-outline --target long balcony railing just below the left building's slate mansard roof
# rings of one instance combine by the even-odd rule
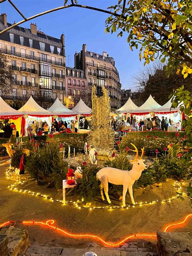
[[[56,66],[64,66],[65,67],[65,62],[57,62],[54,60],[49,60],[47,58],[40,58],[40,57],[36,57],[36,56],[32,56],[26,53],[20,53],[17,51],[10,51],[8,49],[2,49],[0,48],[0,53],[5,53],[5,54],[9,54],[9,55],[14,55],[17,57],[22,57],[22,58],[26,58],[26,59],[30,59],[30,60],[37,60],[38,62],[46,62],[46,63],[50,63],[50,64],[54,64]]]

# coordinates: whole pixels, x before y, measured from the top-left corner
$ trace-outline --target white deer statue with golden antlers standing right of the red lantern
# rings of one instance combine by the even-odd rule
[[[142,153],[141,156],[138,159],[138,149],[135,147],[134,144],[131,143],[131,145],[134,147],[135,150],[132,150],[136,152],[136,156],[134,160],[130,160],[132,163],[132,169],[130,171],[124,171],[119,170],[111,167],[105,167],[100,169],[98,173],[96,174],[97,178],[100,180],[100,192],[101,192],[101,198],[104,201],[105,198],[103,196],[103,188],[104,192],[107,198],[108,203],[111,203],[108,195],[108,182],[115,184],[115,185],[123,185],[123,206],[125,207],[125,196],[127,193],[127,189],[129,190],[131,202],[133,205],[135,205],[134,198],[133,198],[133,191],[132,186],[136,180],[138,180],[141,176],[141,173],[143,170],[147,169],[147,166],[144,164],[145,160],[141,159],[144,152],[144,147],[141,149]]]

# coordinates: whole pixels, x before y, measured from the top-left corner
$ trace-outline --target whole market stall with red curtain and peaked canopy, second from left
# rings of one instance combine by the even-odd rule
[[[24,115],[21,117],[21,136],[29,135],[28,130],[32,126],[33,122],[41,129],[43,128],[43,123],[47,123],[49,128],[51,128],[51,116],[53,113],[39,106],[32,96],[30,96],[26,104],[18,111],[22,113],[24,112]]]

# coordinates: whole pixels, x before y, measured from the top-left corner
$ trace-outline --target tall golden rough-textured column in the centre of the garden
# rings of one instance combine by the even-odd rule
[[[96,87],[92,88],[92,121],[89,132],[89,144],[96,147],[98,155],[109,156],[113,151],[114,132],[111,130],[110,97],[105,87],[102,87],[103,95],[97,97]]]

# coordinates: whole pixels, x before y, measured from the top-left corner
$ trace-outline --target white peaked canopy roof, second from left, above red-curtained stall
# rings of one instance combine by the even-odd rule
[[[28,115],[32,116],[51,116],[52,113],[50,113],[48,110],[43,109],[41,106],[39,106],[32,96],[28,99],[25,105],[21,107],[18,111],[23,111]]]

